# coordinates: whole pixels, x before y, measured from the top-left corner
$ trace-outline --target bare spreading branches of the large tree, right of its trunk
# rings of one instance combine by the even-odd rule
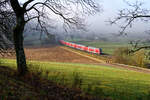
[[[27,2],[31,2],[32,0],[29,0]],[[26,2],[26,3],[27,3]],[[72,6],[74,6],[72,8]],[[62,0],[62,1],[57,1],[57,0],[44,0],[44,1],[39,1],[35,2],[30,6],[26,6],[26,22],[29,22],[31,20],[37,20],[41,28],[41,33],[42,31],[48,32],[46,25],[47,22],[42,22],[43,19],[48,19],[50,18],[51,14],[55,14],[61,19],[63,19],[63,27],[64,29],[81,29],[81,30],[86,30],[85,29],[85,24],[84,24],[84,19],[81,18],[80,16],[82,13],[75,13],[73,12],[74,8],[80,9],[83,11],[83,13],[87,14],[92,14],[94,12],[99,12],[100,8],[97,3],[95,3],[93,0]],[[50,15],[44,12],[43,9],[50,10],[51,13]],[[77,12],[80,12],[80,10],[77,10]],[[86,12],[87,11],[87,12]],[[28,14],[29,12],[35,12],[34,16],[31,14]],[[79,16],[80,15],[80,16]],[[32,17],[31,17],[32,16]],[[47,17],[47,18],[46,18]],[[38,29],[39,30],[39,29]]]

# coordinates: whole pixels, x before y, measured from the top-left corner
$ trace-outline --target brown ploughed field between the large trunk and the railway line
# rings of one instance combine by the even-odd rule
[[[95,60],[63,49],[61,46],[26,48],[25,53],[28,60],[71,63],[98,63]]]

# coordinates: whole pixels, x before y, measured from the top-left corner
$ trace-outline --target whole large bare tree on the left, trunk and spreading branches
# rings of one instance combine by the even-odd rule
[[[20,75],[27,72],[23,32],[29,21],[36,21],[36,28],[49,33],[47,26],[51,25],[50,17],[62,19],[65,28],[82,28],[84,25],[82,16],[99,11],[99,5],[94,0],[25,0],[24,2],[21,0],[1,0],[0,5],[2,5],[0,9],[4,12],[15,14],[16,24],[13,27],[13,41]]]

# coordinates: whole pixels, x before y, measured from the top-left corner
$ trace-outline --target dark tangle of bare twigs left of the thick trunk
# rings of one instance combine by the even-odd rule
[[[15,16],[5,5],[8,0],[0,1],[0,55],[7,56],[14,53],[12,49],[12,28],[15,25]]]

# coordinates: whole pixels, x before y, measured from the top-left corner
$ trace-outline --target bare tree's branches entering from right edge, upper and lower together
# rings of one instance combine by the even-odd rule
[[[125,1],[125,0],[124,0]],[[125,31],[127,28],[132,28],[132,25],[134,22],[140,20],[144,22],[149,22],[150,20],[150,9],[142,8],[143,2],[136,1],[135,3],[130,3],[128,1],[125,1],[129,8],[122,9],[119,11],[118,16],[114,18],[113,20],[110,20],[110,24],[118,24],[119,22],[123,22],[120,26],[120,35],[127,34]],[[130,42],[134,49],[131,52],[136,52],[141,49],[149,49],[150,46],[148,45],[138,45],[139,41],[137,42]]]

